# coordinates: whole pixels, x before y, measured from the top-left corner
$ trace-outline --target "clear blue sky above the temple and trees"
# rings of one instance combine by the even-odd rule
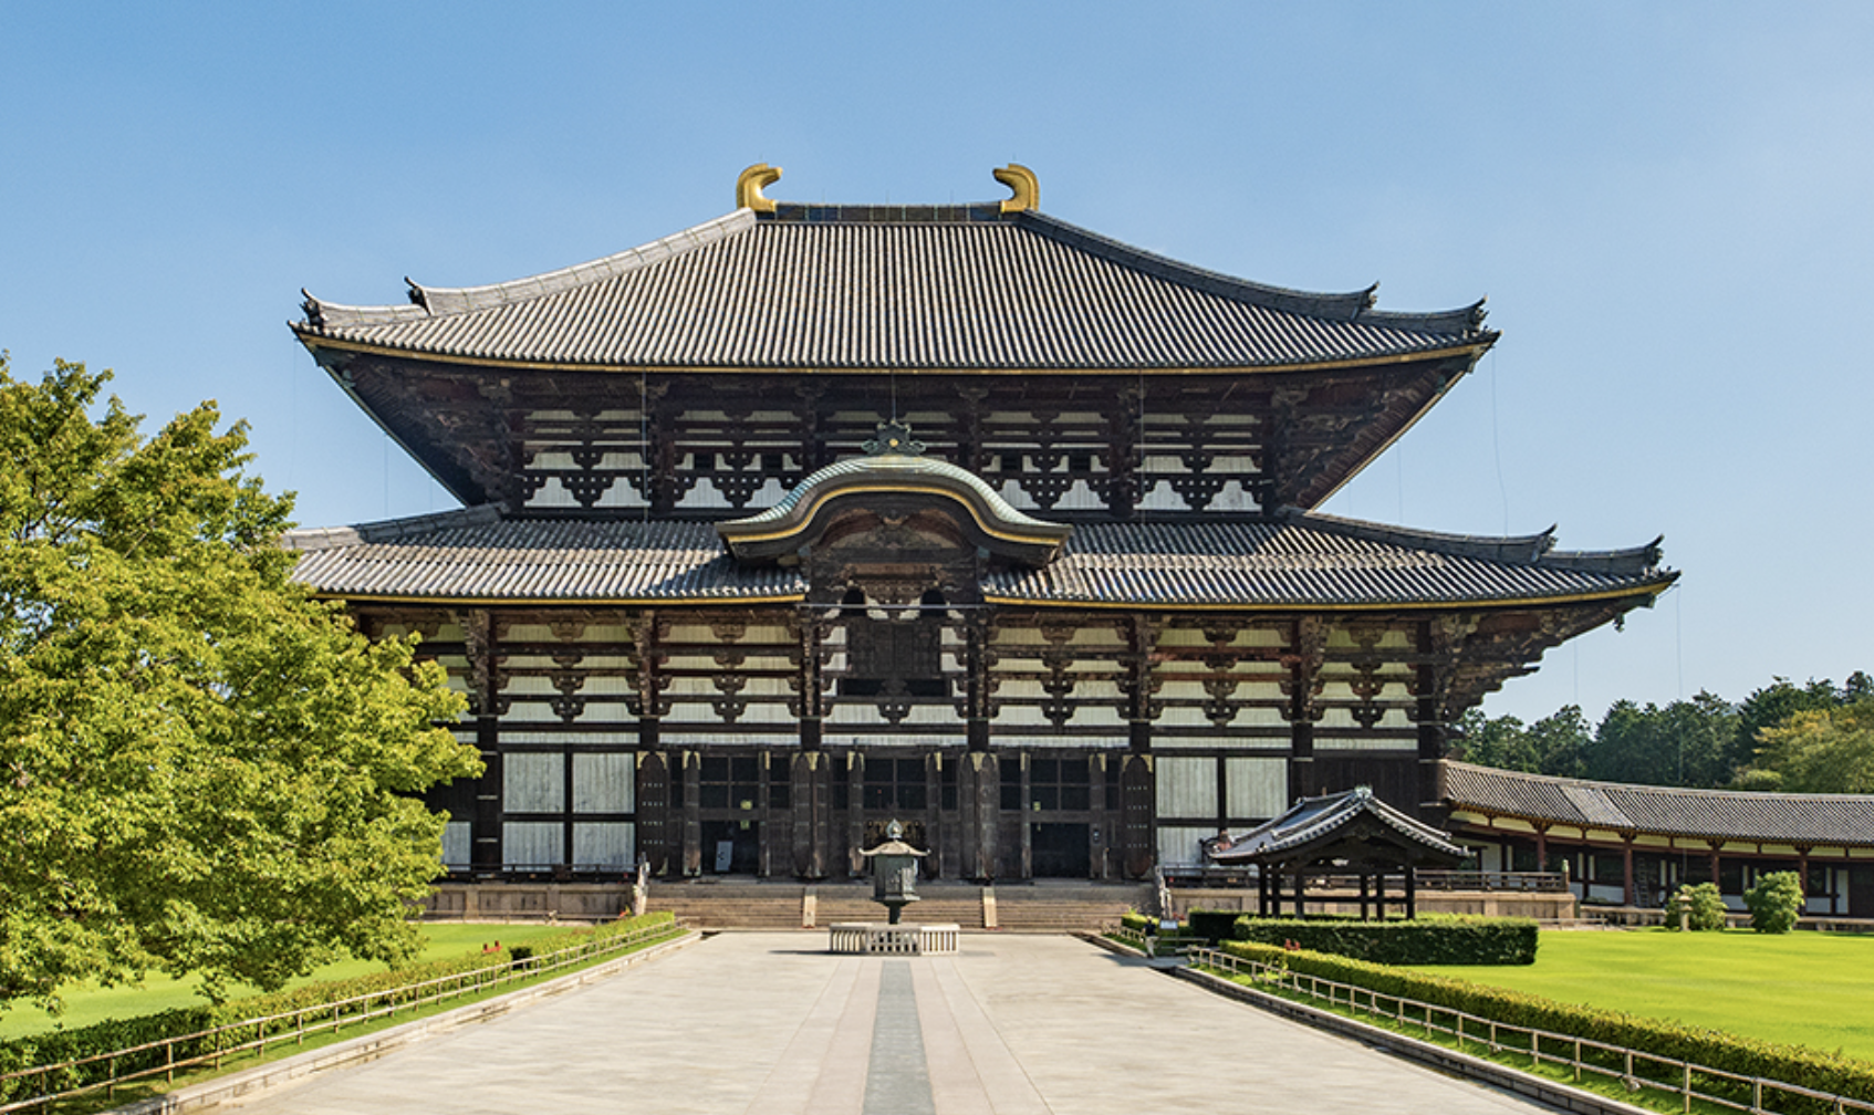
[[[1874,4],[0,0],[0,349],[201,399],[334,525],[452,506],[290,339],[785,201],[989,201],[1494,354],[1325,508],[1666,536],[1625,632],[1484,708],[1874,669]]]

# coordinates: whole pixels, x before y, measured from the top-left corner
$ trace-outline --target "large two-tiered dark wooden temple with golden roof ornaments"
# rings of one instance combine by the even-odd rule
[[[298,530],[420,632],[487,761],[459,875],[1136,879],[1299,796],[1435,808],[1447,725],[1675,577],[1317,513],[1464,379],[1391,313],[986,204],[736,208],[409,305],[307,296],[320,367],[455,512]]]

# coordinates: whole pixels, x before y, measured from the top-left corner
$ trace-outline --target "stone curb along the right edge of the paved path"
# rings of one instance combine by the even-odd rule
[[[1106,948],[1108,952],[1117,952],[1121,956],[1134,956],[1139,959],[1151,959],[1136,948],[1128,948],[1117,941],[1098,937],[1093,933],[1081,935],[1087,941]],[[1280,995],[1271,995],[1267,991],[1257,991],[1254,988],[1244,988],[1242,984],[1233,984],[1222,976],[1212,976],[1211,973],[1199,973],[1184,963],[1177,967],[1166,965],[1162,971],[1171,973],[1173,978],[1186,980],[1211,991],[1212,995],[1224,995],[1226,999],[1237,999],[1239,1003],[1248,1003],[1271,1014],[1310,1025],[1319,1031],[1340,1034],[1344,1038],[1353,1038],[1376,1049],[1383,1049],[1396,1057],[1407,1061],[1417,1061],[1439,1072],[1450,1076],[1462,1076],[1465,1079],[1475,1079],[1507,1093],[1516,1093],[1518,1096],[1548,1104],[1559,1111],[1574,1111],[1576,1115],[1657,1115],[1647,1108],[1636,1108],[1632,1104],[1623,1104],[1619,1100],[1610,1100],[1608,1096],[1569,1087],[1565,1083],[1555,1083],[1548,1078],[1535,1076],[1529,1072],[1520,1072],[1495,1061],[1484,1061],[1482,1057],[1473,1057],[1469,1053],[1458,1053],[1432,1042],[1420,1042],[1419,1038],[1407,1038],[1406,1034],[1392,1033],[1383,1027],[1376,1027],[1351,1018],[1342,1018],[1329,1010],[1319,1010],[1304,1003],[1293,1003],[1282,999]]]

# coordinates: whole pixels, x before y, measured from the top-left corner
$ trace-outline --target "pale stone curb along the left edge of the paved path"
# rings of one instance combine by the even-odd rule
[[[407,1021],[403,1025],[379,1031],[375,1034],[364,1034],[362,1038],[352,1038],[349,1042],[339,1042],[335,1046],[326,1046],[324,1049],[313,1049],[311,1053],[300,1053],[298,1057],[287,1057],[285,1061],[275,1061],[272,1064],[257,1064],[242,1072],[232,1072],[216,1079],[204,1079],[202,1083],[187,1085],[161,1096],[150,1096],[148,1100],[139,1100],[135,1104],[126,1104],[122,1108],[111,1108],[107,1115],[157,1115],[167,1111],[199,1111],[202,1108],[212,1108],[216,1104],[225,1104],[238,1096],[247,1096],[260,1093],[277,1085],[283,1085],[302,1076],[313,1076],[317,1072],[326,1072],[328,1068],[341,1068],[345,1064],[358,1064],[364,1061],[375,1061],[386,1053],[401,1049],[405,1046],[414,1046],[425,1038],[444,1034],[452,1029],[472,1025],[478,1021],[489,1021],[508,1014],[517,1006],[525,1006],[536,999],[545,999],[549,995],[560,995],[572,991],[594,980],[603,980],[628,967],[639,963],[648,963],[688,948],[701,941],[703,935],[697,931],[686,931],[675,941],[665,941],[662,944],[652,944],[639,952],[620,956],[618,959],[607,959],[596,967],[588,967],[577,973],[547,980],[545,984],[536,984],[532,988],[521,988],[519,991],[508,991],[506,995],[497,995],[483,1003],[470,1003],[468,1006],[457,1006],[431,1018],[420,1018],[416,1021]]]

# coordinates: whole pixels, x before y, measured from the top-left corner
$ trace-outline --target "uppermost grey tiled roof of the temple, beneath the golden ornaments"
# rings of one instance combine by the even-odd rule
[[[736,210],[560,272],[412,305],[307,294],[322,339],[457,360],[695,369],[1284,367],[1495,337],[1479,305],[1383,313],[1192,268],[1038,212]]]

